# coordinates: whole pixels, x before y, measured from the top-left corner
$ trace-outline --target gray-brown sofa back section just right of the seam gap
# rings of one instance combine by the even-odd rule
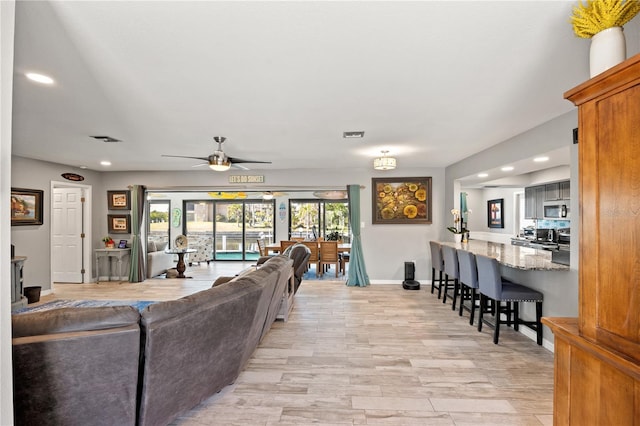
[[[238,280],[142,311],[140,425],[167,424],[233,383],[262,292]]]

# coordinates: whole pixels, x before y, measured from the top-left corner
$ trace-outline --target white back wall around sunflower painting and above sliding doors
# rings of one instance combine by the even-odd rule
[[[431,265],[427,246],[431,239],[440,239],[446,232],[446,220],[441,206],[444,200],[444,170],[432,168],[401,169],[390,172],[375,172],[370,169],[299,169],[250,172],[214,173],[209,170],[194,172],[118,172],[104,173],[106,189],[122,189],[128,185],[146,185],[148,189],[222,189],[244,190],[243,185],[228,184],[229,174],[264,175],[265,183],[258,190],[286,188],[339,188],[349,184],[364,186],[361,192],[361,218],[364,222],[362,243],[365,264],[372,283],[398,283],[404,279],[404,262],[416,262],[416,279],[431,278]],[[433,223],[431,225],[373,225],[372,224],[372,177],[422,177],[433,178]],[[278,200],[277,204],[280,204]],[[285,201],[286,204],[286,201]],[[173,205],[172,205],[173,207]],[[287,222],[277,220],[276,235],[286,237]],[[98,233],[97,235],[102,235]]]

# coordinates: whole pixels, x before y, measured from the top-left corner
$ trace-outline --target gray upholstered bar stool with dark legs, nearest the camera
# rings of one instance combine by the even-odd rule
[[[446,259],[445,259],[446,260]],[[536,332],[536,341],[538,345],[542,345],[542,300],[543,295],[539,291],[529,287],[506,281],[500,274],[500,265],[494,258],[476,255],[476,263],[478,265],[478,285],[480,287],[480,312],[478,315],[478,331],[482,331],[483,314],[486,311],[487,300],[491,299],[495,302],[493,314],[495,316],[495,325],[493,332],[493,343],[498,344],[500,337],[500,324],[511,325],[513,329],[518,331],[519,325],[529,327]],[[502,306],[502,302],[506,302],[506,307]],[[536,304],[536,320],[525,321],[520,318],[519,303],[535,302]],[[511,304],[513,303],[513,310]],[[507,318],[502,320],[500,314],[504,313]],[[513,319],[512,319],[513,315]],[[487,322],[488,325],[491,325]]]

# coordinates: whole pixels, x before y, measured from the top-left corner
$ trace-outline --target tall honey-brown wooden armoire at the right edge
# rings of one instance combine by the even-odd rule
[[[640,55],[565,93],[578,107],[578,318],[555,336],[555,425],[640,425]]]

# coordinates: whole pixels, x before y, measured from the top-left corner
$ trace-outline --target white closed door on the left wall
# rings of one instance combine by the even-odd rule
[[[83,282],[82,191],[82,188],[53,189],[51,268],[54,282]]]

